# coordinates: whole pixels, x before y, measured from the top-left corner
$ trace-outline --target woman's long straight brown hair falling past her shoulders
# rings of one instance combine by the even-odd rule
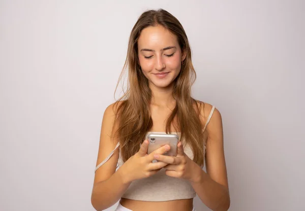
[[[128,67],[127,90],[114,103],[116,117],[113,129],[117,128],[114,137],[120,143],[123,160],[127,161],[138,152],[146,132],[153,126],[149,111],[151,90],[148,87],[147,78],[140,69],[137,41],[144,28],[157,25],[161,25],[175,34],[181,51],[187,54],[179,75],[173,81],[172,96],[176,100],[176,105],[167,118],[166,133],[171,133],[171,125],[176,131],[180,131],[180,140],[186,140],[186,143],[191,146],[194,153],[193,160],[201,166],[204,163],[203,146],[206,142],[206,135],[202,132],[203,127],[199,118],[200,107],[203,103],[191,97],[191,86],[196,80],[191,60],[191,48],[180,22],[163,9],[148,10],[142,13],[131,31],[126,61],[115,88],[116,91],[122,74]],[[200,106],[197,102],[200,103]]]

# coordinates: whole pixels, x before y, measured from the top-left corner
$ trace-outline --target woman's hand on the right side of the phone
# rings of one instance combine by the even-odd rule
[[[184,153],[181,142],[179,142],[177,145],[177,155],[175,157],[156,154],[154,155],[154,158],[156,160],[168,163],[168,165],[163,168],[166,169],[166,175],[170,177],[181,178],[194,182],[202,170],[197,163],[195,163]]]

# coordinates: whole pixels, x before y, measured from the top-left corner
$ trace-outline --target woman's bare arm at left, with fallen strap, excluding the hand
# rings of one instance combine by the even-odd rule
[[[110,137],[113,135],[114,117],[111,104],[103,116],[97,165],[109,155],[117,143]],[[123,169],[115,171],[118,157],[119,150],[116,149],[109,160],[96,170],[91,196],[91,203],[96,210],[103,210],[115,204],[130,185],[123,177]]]

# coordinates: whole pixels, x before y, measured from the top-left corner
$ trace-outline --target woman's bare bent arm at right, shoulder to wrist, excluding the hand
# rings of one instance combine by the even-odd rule
[[[228,210],[230,196],[224,155],[223,127],[221,114],[217,109],[206,130],[208,133],[205,156],[207,173],[196,165],[194,180],[191,184],[201,201],[210,209]]]

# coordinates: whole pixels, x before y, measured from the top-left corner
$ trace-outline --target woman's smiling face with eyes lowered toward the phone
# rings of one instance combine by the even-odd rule
[[[180,73],[182,55],[177,37],[163,26],[148,26],[138,39],[138,55],[149,87],[165,88]]]

